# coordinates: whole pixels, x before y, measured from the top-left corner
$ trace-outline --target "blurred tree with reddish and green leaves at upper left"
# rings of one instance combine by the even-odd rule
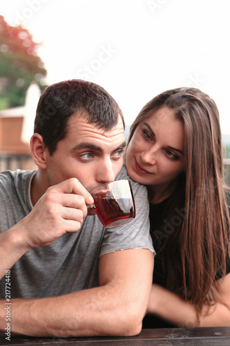
[[[0,16],[0,110],[23,105],[33,80],[44,89],[47,71],[37,56],[38,46],[28,30],[10,26]]]

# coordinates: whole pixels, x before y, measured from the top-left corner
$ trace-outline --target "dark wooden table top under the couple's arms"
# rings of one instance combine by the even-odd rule
[[[230,327],[206,328],[165,328],[143,329],[137,336],[131,337],[91,337],[91,338],[35,338],[11,334],[10,340],[0,331],[1,346],[222,346],[230,345]]]

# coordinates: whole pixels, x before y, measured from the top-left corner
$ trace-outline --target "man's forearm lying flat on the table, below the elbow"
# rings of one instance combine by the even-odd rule
[[[30,336],[133,335],[141,328],[132,302],[120,300],[113,287],[102,286],[56,298],[11,300],[11,331]],[[123,301],[123,299],[122,299]],[[0,329],[6,328],[1,301]]]

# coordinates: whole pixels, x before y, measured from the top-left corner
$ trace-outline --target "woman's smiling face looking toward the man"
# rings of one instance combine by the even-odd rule
[[[168,107],[141,122],[128,144],[126,167],[134,181],[152,188],[172,186],[183,170],[184,127]]]

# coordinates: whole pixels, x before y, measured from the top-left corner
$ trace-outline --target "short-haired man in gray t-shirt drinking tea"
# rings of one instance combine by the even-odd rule
[[[153,271],[146,189],[132,182],[136,217],[129,224],[106,229],[86,216],[88,191],[128,178],[122,111],[97,84],[53,84],[39,100],[30,144],[38,170],[0,174],[0,266],[10,279],[11,331],[138,334]],[[4,330],[4,277],[0,283]]]

